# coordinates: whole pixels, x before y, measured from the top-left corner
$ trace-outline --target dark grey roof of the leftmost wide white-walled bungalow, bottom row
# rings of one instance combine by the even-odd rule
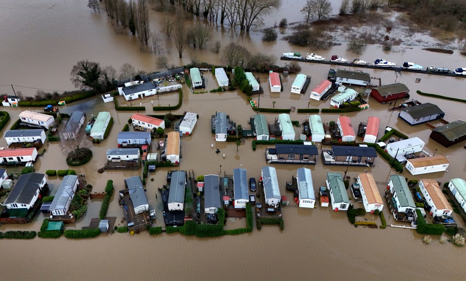
[[[44,179],[44,174],[28,173],[19,176],[15,186],[11,190],[8,198],[6,198],[3,205],[19,203],[29,204],[33,199],[40,182]]]

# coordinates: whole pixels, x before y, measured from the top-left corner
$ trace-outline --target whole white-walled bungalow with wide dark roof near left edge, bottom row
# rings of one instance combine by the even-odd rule
[[[28,173],[19,176],[15,186],[2,203],[7,209],[31,209],[42,188],[47,184],[44,174]]]

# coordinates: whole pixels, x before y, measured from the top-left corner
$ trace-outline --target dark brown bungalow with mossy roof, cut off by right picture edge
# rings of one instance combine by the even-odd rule
[[[437,127],[431,132],[431,139],[448,148],[466,140],[466,122],[456,120]]]

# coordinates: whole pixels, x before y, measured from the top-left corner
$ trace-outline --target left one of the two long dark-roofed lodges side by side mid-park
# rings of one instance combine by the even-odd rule
[[[266,161],[267,163],[315,165],[317,154],[315,145],[278,144],[274,149],[266,149]]]

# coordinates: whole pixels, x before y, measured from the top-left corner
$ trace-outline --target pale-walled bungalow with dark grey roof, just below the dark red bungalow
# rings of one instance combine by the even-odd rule
[[[443,118],[443,112],[435,104],[426,102],[416,106],[406,107],[400,110],[398,117],[410,125],[417,125],[432,120]]]

